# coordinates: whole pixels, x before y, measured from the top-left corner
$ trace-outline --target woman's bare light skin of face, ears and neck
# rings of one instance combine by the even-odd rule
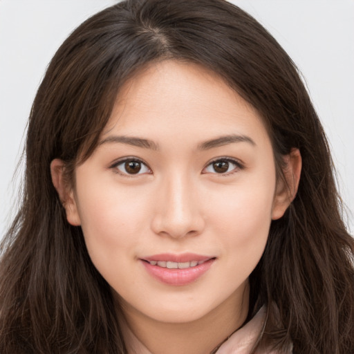
[[[230,135],[245,141],[201,149]],[[151,140],[153,149],[116,136]],[[132,156],[145,165],[129,175],[118,161]],[[299,151],[284,159],[289,189],[277,183],[259,113],[216,74],[169,60],[124,84],[101,144],[75,170],[75,189],[64,183],[64,163],[53,160],[68,222],[81,225],[88,253],[136,336],[125,334],[128,346],[139,353],[205,354],[243,324],[248,277],[271,221],[297,191]],[[227,171],[218,173],[213,160],[228,163]],[[140,261],[167,252],[216,260],[193,283],[171,286]]]

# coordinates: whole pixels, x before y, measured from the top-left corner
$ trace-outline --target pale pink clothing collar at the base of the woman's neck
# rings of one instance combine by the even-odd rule
[[[257,342],[259,333],[261,332],[265,320],[265,307],[263,306],[259,312],[248,322],[236,330],[215,352],[215,354],[250,354],[254,344]],[[124,326],[124,338],[129,343],[128,354],[153,354],[146,346],[144,346],[138,338]],[[283,353],[267,349],[257,349],[255,354],[292,354],[292,346]]]

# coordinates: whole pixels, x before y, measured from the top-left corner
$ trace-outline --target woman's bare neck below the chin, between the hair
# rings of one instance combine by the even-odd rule
[[[120,327],[128,354],[211,353],[245,322],[248,297],[247,283],[241,297],[233,294],[200,319],[184,323],[156,321],[123,303],[125,319],[120,321]]]

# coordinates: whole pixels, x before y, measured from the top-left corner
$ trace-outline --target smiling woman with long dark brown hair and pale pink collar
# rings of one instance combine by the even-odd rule
[[[331,169],[295,66],[245,12],[100,12],[32,107],[1,353],[353,353]]]

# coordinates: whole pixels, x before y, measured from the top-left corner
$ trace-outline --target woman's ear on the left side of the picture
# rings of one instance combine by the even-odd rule
[[[64,178],[64,166],[63,160],[55,158],[55,160],[50,162],[50,174],[52,175],[53,185],[59,194],[59,199],[65,208],[68,223],[73,226],[79,226],[81,225],[81,220],[77,212],[75,194],[73,188],[68,186]]]

